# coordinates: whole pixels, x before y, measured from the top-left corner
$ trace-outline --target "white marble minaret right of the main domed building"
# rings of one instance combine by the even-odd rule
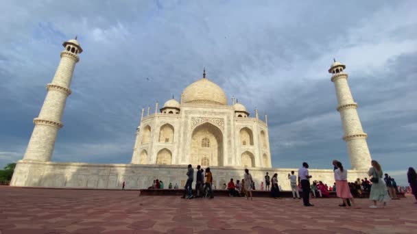
[[[331,81],[335,83],[337,111],[340,113],[344,130],[343,140],[346,141],[350,164],[353,170],[368,170],[370,167],[370,153],[366,138],[368,135],[362,129],[361,120],[357,114],[357,103],[353,101],[348,85],[348,74],[344,73],[346,66],[334,60],[329,69],[333,74]]]

